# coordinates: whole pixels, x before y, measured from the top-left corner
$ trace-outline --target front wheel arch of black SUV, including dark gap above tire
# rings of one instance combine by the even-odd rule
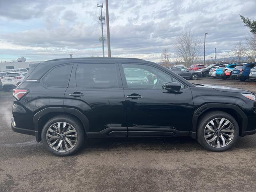
[[[242,136],[242,132],[246,130],[248,118],[246,114],[236,105],[233,104],[204,104],[200,108],[194,111],[192,118],[192,132],[190,136],[196,138],[197,124],[200,117],[211,111],[223,111],[233,116],[238,122],[239,135]]]

